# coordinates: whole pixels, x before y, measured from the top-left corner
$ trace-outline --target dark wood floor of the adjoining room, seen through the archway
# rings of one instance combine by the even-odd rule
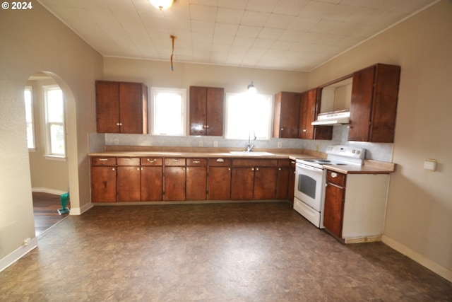
[[[33,212],[35,214],[35,234],[40,236],[44,231],[65,219],[69,214],[59,214],[60,196],[43,192],[32,192]],[[67,207],[70,205],[68,204]]]

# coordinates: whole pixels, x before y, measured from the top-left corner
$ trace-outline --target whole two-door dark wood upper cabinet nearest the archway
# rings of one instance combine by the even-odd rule
[[[99,133],[148,133],[148,88],[143,83],[96,81]]]

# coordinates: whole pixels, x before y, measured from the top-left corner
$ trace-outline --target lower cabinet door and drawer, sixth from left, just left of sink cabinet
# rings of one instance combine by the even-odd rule
[[[208,159],[208,199],[231,199],[231,160],[229,158]]]

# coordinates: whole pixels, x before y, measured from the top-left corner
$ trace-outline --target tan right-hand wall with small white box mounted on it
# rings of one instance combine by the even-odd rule
[[[309,86],[377,62],[402,68],[383,240],[452,281],[452,1],[319,66]],[[436,172],[423,169],[427,158]]]

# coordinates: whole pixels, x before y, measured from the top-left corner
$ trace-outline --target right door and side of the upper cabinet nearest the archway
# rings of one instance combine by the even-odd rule
[[[119,83],[121,133],[147,134],[148,89],[142,83]]]

